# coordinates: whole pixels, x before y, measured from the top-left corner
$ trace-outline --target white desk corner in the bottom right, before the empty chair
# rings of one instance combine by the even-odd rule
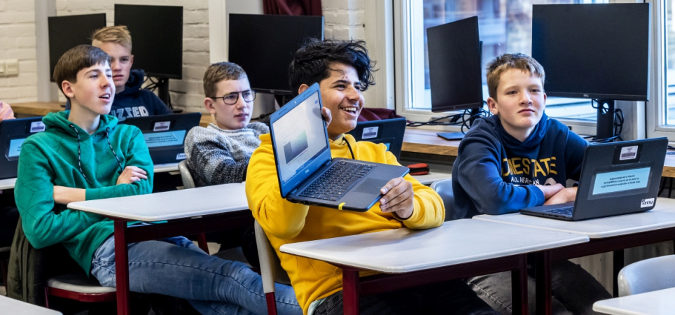
[[[593,310],[615,315],[671,315],[675,313],[675,288],[627,295],[593,304]]]

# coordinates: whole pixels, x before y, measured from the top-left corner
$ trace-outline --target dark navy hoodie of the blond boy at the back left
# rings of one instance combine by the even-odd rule
[[[144,77],[145,72],[141,69],[134,69],[129,73],[129,80],[127,80],[124,90],[115,94],[109,115],[115,116],[122,122],[127,117],[173,113],[155,93],[141,89]],[[70,109],[70,102],[67,102],[66,109]]]

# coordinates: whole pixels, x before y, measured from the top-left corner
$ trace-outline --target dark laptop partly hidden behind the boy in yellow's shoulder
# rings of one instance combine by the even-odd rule
[[[384,144],[387,146],[387,151],[394,153],[398,160],[401,156],[406,123],[405,118],[362,121],[356,123],[356,128],[347,133],[354,136],[356,141]]]

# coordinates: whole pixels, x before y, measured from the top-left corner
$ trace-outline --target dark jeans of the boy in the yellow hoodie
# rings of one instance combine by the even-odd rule
[[[499,314],[461,280],[360,296],[359,309],[363,315]],[[341,314],[342,291],[326,297],[314,311],[314,315]]]

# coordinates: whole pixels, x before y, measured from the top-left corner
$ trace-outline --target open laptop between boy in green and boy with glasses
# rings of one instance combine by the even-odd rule
[[[150,158],[158,165],[186,159],[185,136],[200,124],[201,119],[201,113],[181,113],[130,117],[120,123],[139,127],[148,144]]]

